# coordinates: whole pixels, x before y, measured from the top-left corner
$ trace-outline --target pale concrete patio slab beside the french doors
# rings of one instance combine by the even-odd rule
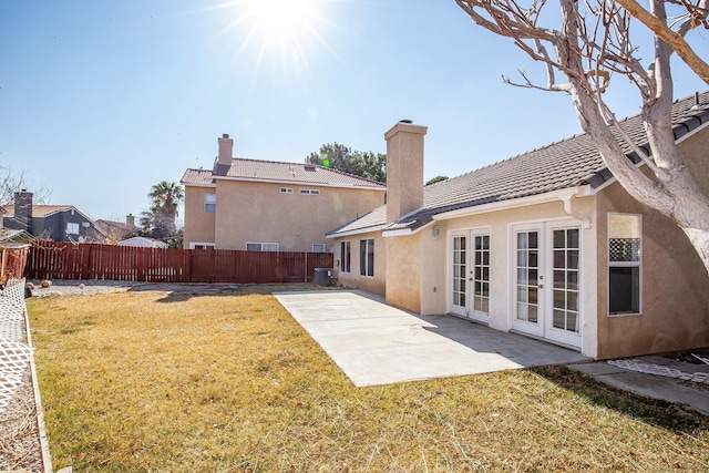
[[[455,317],[414,316],[366,291],[274,296],[357,387],[589,361]]]

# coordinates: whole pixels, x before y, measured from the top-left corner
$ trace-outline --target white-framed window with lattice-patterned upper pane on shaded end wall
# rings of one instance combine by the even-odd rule
[[[608,214],[608,313],[640,313],[643,220]]]

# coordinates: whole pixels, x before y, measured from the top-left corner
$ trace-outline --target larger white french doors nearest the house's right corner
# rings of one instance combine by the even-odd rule
[[[513,227],[512,328],[580,347],[580,228]]]

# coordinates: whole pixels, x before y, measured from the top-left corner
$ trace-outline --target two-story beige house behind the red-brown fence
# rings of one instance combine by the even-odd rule
[[[305,163],[233,157],[218,138],[212,169],[187,169],[184,247],[330,251],[325,234],[384,203],[386,186]]]

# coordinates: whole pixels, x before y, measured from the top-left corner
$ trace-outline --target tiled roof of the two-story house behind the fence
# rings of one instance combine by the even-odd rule
[[[363,187],[380,191],[386,191],[387,188],[382,183],[320,165],[244,158],[233,158],[230,166],[215,164],[213,171],[187,169],[181,183],[183,185],[205,186],[214,185],[217,178],[315,186]]]

